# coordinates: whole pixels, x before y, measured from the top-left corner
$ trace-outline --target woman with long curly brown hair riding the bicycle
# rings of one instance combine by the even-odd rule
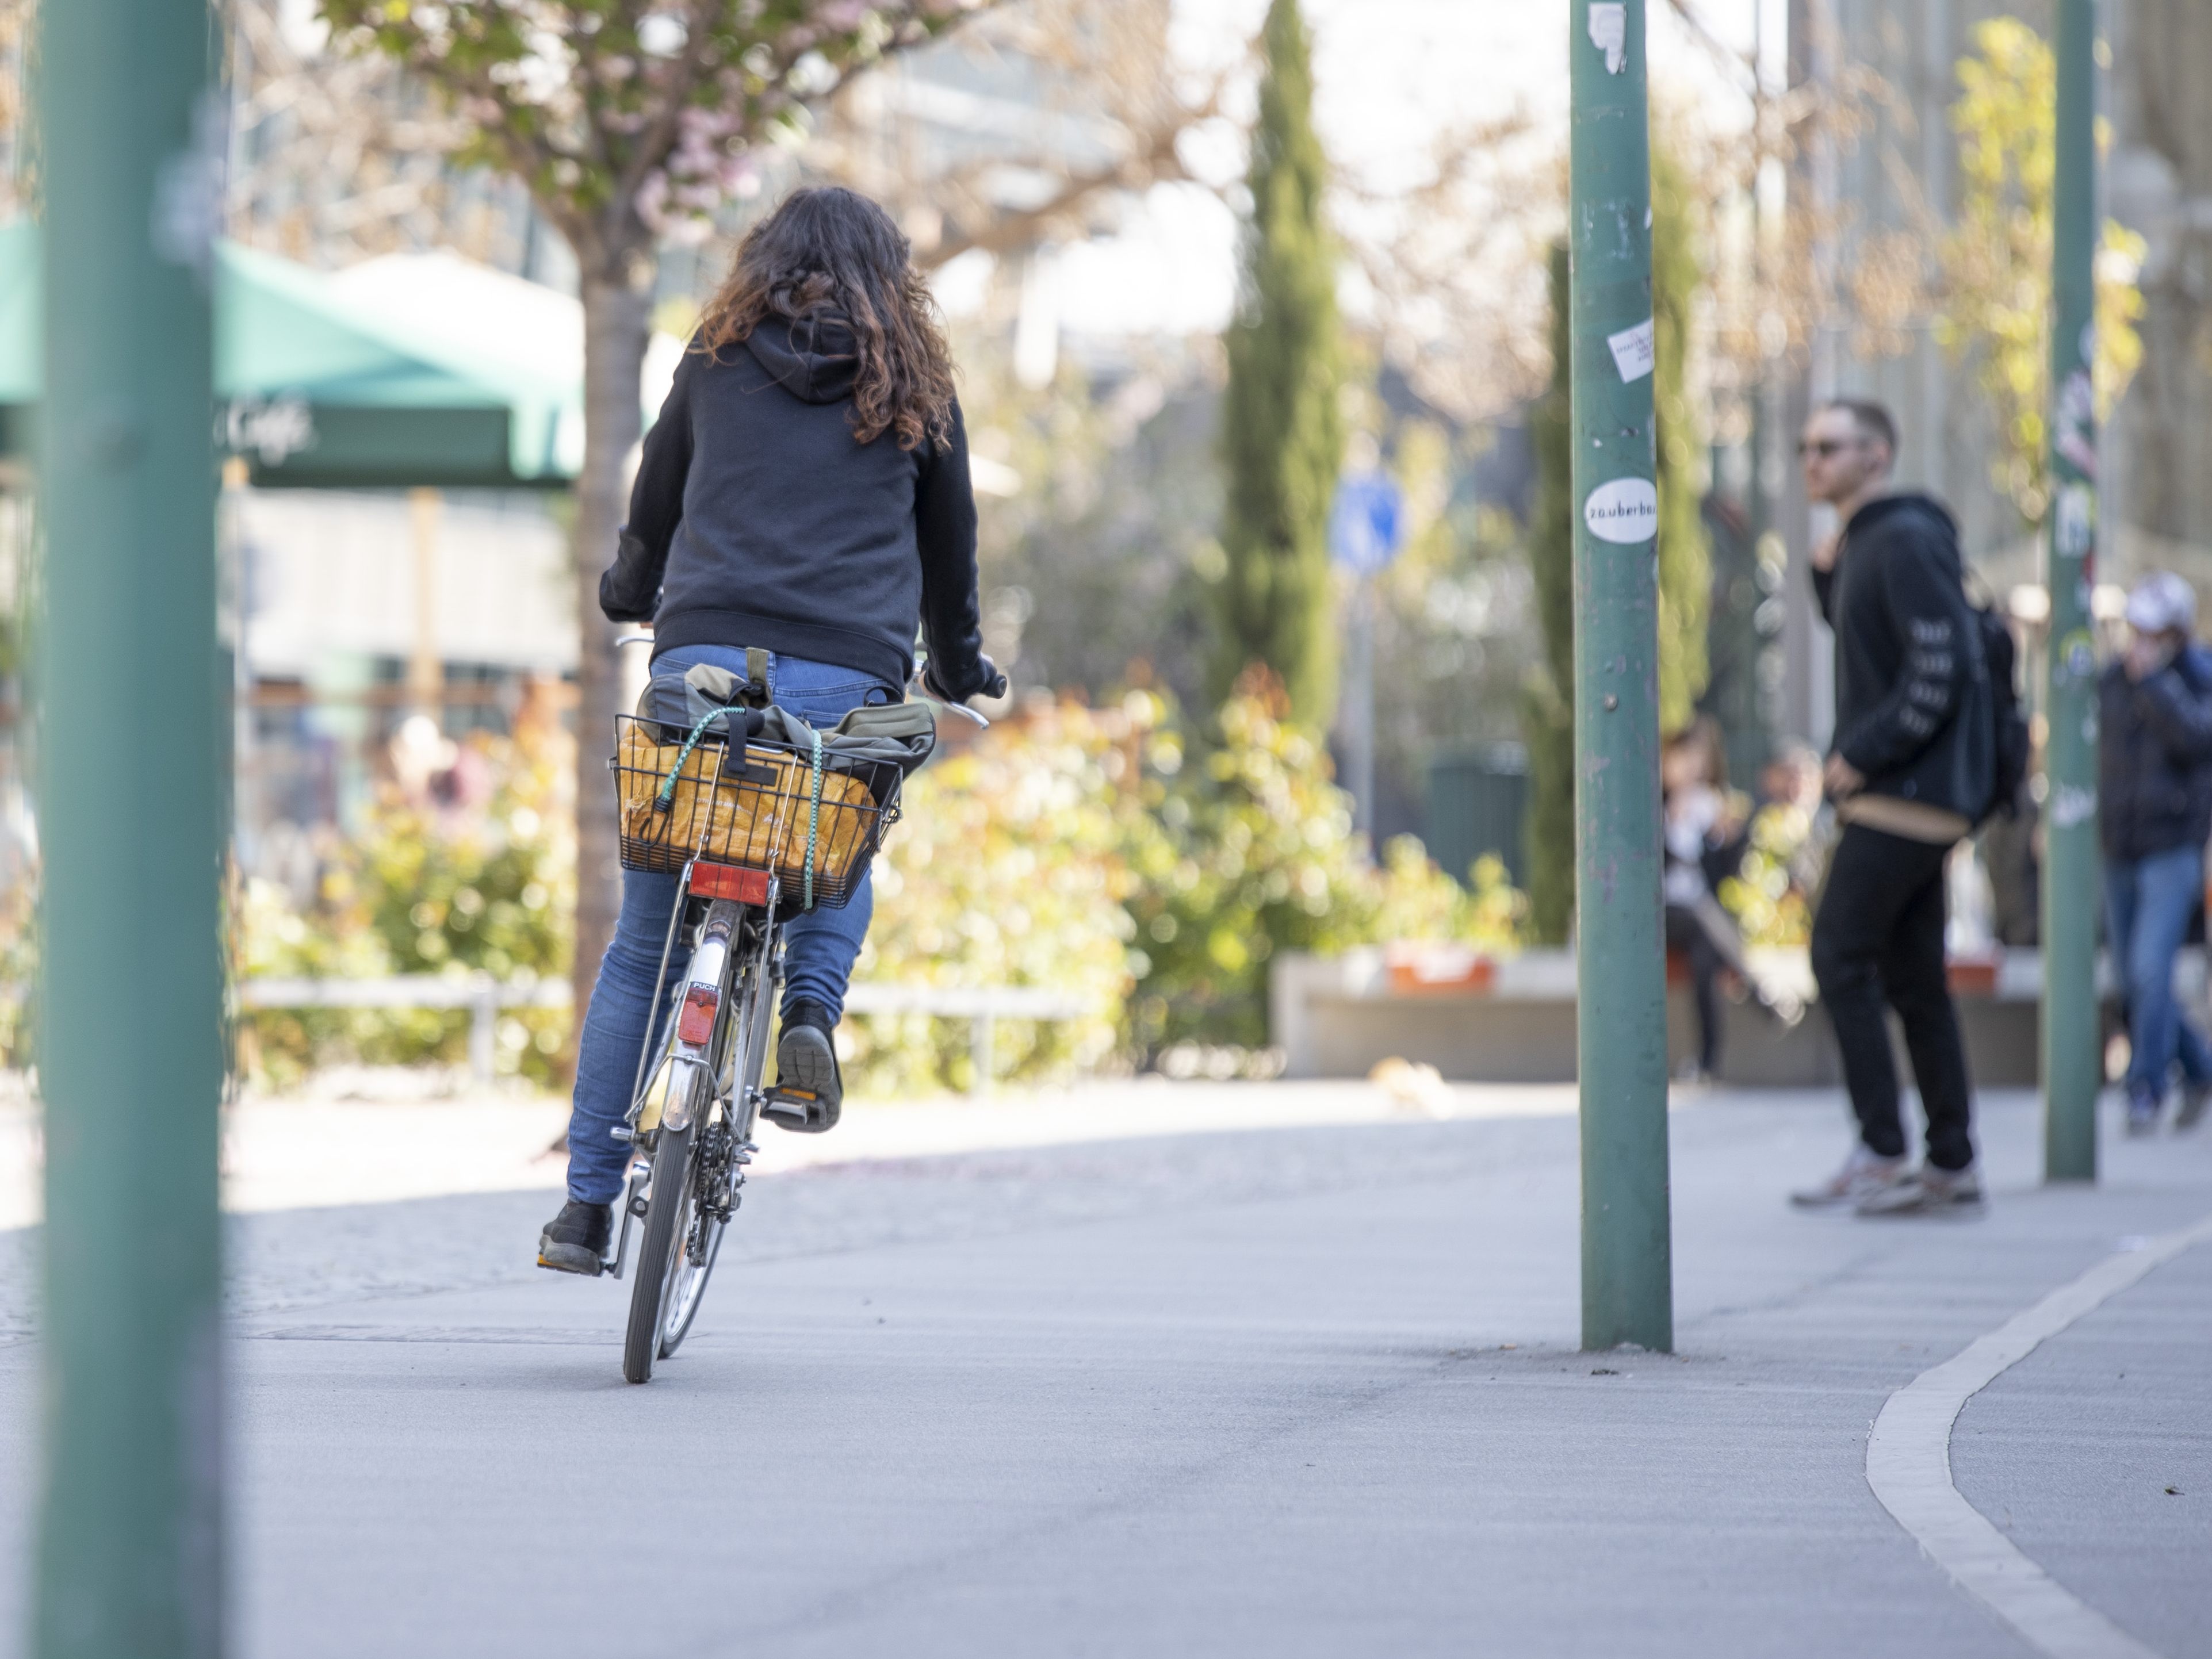
[[[745,232],[646,434],[630,522],[599,577],[611,622],[655,624],[655,677],[712,664],[743,679],[748,646],[765,650],[770,699],[827,728],[902,701],[920,630],[933,697],[1004,695],[982,655],[967,431],[933,312],[907,239],[852,190],[799,190]],[[577,1042],[568,1201],[538,1241],[542,1267],[599,1272],[628,1157],[613,1130],[679,885],[622,876]],[[872,905],[863,876],[841,909],[783,925],[779,1104],[765,1110],[781,1128],[838,1119],[832,1033]]]

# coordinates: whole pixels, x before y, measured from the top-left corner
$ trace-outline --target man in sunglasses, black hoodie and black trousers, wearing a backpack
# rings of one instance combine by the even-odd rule
[[[1893,491],[1898,431],[1878,403],[1838,400],[1805,427],[1805,487],[1843,526],[1814,553],[1836,633],[1836,739],[1825,785],[1843,834],[1812,925],[1812,971],[1843,1051],[1858,1146],[1803,1206],[1860,1214],[1982,1201],[1971,1084],[1944,978],[1944,860],[1989,810],[1995,708],[1980,619],[1966,604],[1958,526],[1927,495]],[[1885,1004],[1927,1113],[1927,1159],[1905,1159]]]

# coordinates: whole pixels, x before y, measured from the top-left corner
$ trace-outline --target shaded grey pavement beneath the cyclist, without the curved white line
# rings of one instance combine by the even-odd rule
[[[2212,1137],[2042,1190],[2033,1104],[1991,1097],[1966,1223],[1790,1212],[1836,1097],[1714,1095],[1672,1139],[1670,1358],[1573,1352],[1557,1110],[763,1175],[648,1389],[628,1287],[526,1265],[544,1192],[243,1217],[239,1652],[2028,1652],[1876,1504],[1867,1425],[2212,1212]],[[2170,1659],[2212,1630],[2203,1256],[1953,1440],[1966,1498]],[[33,1385],[18,1336],[24,1429]],[[18,1573],[27,1464],[18,1431]]]

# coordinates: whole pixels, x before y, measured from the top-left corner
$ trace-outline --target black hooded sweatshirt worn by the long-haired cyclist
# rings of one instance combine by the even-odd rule
[[[960,405],[947,442],[856,442],[858,365],[830,310],[770,319],[714,356],[692,343],[599,577],[608,622],[650,619],[655,653],[761,646],[894,686],[920,626],[945,695],[989,684]]]

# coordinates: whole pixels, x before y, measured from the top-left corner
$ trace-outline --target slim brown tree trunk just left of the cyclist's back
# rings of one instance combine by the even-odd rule
[[[617,847],[615,781],[606,757],[615,743],[619,675],[615,628],[599,613],[599,573],[615,557],[615,535],[624,520],[624,482],[630,447],[644,420],[637,409],[637,378],[646,361],[653,288],[646,259],[608,261],[624,276],[584,276],[584,471],[575,480],[575,1020],[568,1053],[584,1029],[599,958],[615,933],[622,907],[622,863]]]

